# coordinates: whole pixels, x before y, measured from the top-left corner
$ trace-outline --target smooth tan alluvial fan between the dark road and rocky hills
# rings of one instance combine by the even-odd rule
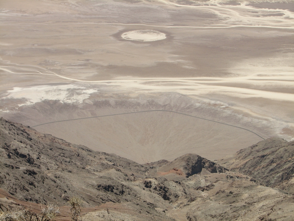
[[[240,128],[158,112],[66,121],[35,129],[138,163],[170,161],[187,153],[215,160],[262,140]]]

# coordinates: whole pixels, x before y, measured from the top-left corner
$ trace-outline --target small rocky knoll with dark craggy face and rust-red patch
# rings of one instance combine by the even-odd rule
[[[153,163],[158,164],[157,162]],[[197,154],[185,154],[173,160],[170,163],[161,166],[158,170],[159,174],[176,173],[187,178],[194,174],[201,173],[202,169],[206,169],[211,173],[224,173],[228,171],[223,166],[220,166],[208,159],[202,158]]]

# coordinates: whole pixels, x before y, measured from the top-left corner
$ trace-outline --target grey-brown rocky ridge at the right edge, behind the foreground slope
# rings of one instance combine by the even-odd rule
[[[294,141],[268,138],[219,163],[231,171],[294,194]]]

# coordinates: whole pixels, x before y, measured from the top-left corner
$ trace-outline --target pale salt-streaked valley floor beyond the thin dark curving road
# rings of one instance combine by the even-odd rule
[[[0,115],[36,126],[173,110],[291,140],[293,5],[1,1]],[[214,160],[261,139],[156,112],[36,129],[138,162],[190,152]]]

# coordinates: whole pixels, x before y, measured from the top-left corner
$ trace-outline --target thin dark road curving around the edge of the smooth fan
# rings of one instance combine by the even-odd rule
[[[206,121],[212,121],[212,122],[216,122],[216,123],[221,123],[221,122],[218,122],[218,121],[208,120],[208,119],[205,119],[205,118],[196,117],[196,116],[188,115],[188,114],[185,114],[185,113],[179,113],[179,112],[171,111],[171,110],[144,110],[144,111],[136,111],[136,112],[129,112],[129,113],[117,113],[117,114],[110,114],[110,115],[103,115],[103,116],[95,116],[95,117],[76,118],[76,119],[63,120],[63,121],[75,121],[75,120],[88,119],[88,118],[106,117],[106,116],[115,116],[115,115],[130,114],[130,113],[152,112],[152,111],[166,111],[166,112],[178,113],[178,114],[186,115],[186,116],[189,116],[189,117],[195,117],[195,118],[203,119],[203,120],[206,120]],[[32,126],[32,128],[33,128],[33,127],[37,127],[37,126],[41,126],[41,125],[44,125],[44,124],[57,123],[57,122],[63,122],[63,121],[52,121],[52,122],[48,122],[48,123],[42,123],[42,124],[39,124],[39,125],[36,125],[36,126]],[[225,124],[225,125],[228,125],[228,126],[232,126],[232,127],[240,128],[240,129],[243,129],[243,130],[249,131],[249,132],[254,133],[255,135],[259,136],[257,133],[255,133],[255,132],[253,132],[253,131],[250,131],[250,130],[248,130],[248,129],[245,129],[245,128],[243,128],[243,127],[238,127],[238,126],[230,125],[230,124],[227,124],[227,123],[221,123],[221,124]],[[262,138],[263,140],[265,140],[265,138],[263,138],[263,137],[261,137],[261,136],[259,136],[259,137]]]

